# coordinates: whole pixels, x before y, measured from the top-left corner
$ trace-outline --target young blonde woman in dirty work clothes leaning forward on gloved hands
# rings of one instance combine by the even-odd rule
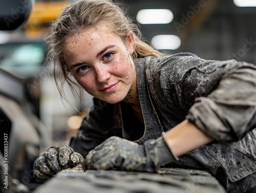
[[[208,171],[228,192],[255,191],[255,66],[163,56],[108,0],[67,6],[46,40],[60,93],[63,81],[78,83],[94,106],[72,148],[51,147],[35,161],[38,181],[81,163],[147,172],[168,165]]]

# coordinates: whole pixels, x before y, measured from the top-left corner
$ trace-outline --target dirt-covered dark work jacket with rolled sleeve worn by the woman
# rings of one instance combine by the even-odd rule
[[[179,157],[170,166],[206,170],[229,192],[255,187],[255,176],[252,182],[246,178],[256,171],[254,65],[179,53],[138,58],[136,71],[144,126],[132,115],[130,105],[95,98],[71,141],[75,151],[86,156],[113,135],[141,144],[188,119],[215,141]],[[139,132],[141,128],[143,132]],[[136,131],[141,136],[134,135]],[[238,187],[240,182],[243,186]]]

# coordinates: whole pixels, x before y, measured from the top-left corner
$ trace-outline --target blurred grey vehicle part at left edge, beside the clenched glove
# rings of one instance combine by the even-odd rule
[[[38,186],[33,178],[33,163],[50,145],[49,134],[36,116],[26,81],[0,69],[0,82],[1,136],[8,139],[8,151],[2,144],[1,152],[8,161],[7,176],[33,190]]]

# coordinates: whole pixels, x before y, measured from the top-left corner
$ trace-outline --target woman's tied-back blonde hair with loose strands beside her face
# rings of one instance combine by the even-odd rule
[[[54,63],[53,75],[55,82],[61,97],[65,100],[67,100],[63,92],[65,81],[69,84],[73,94],[80,96],[80,99],[82,93],[81,90],[77,92],[74,89],[73,85],[77,85],[77,83],[68,71],[63,59],[67,39],[73,34],[90,27],[96,27],[100,23],[112,27],[114,33],[120,36],[124,42],[131,32],[134,34],[134,59],[144,56],[162,56],[159,51],[142,40],[138,26],[132,22],[132,19],[126,15],[119,4],[115,4],[111,0],[78,0],[71,3],[64,7],[59,17],[51,23],[50,33],[45,38],[48,44],[46,60]]]

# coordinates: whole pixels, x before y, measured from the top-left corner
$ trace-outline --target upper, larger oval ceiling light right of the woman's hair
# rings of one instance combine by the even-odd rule
[[[169,24],[174,14],[169,9],[142,9],[137,13],[137,21],[140,24]]]

